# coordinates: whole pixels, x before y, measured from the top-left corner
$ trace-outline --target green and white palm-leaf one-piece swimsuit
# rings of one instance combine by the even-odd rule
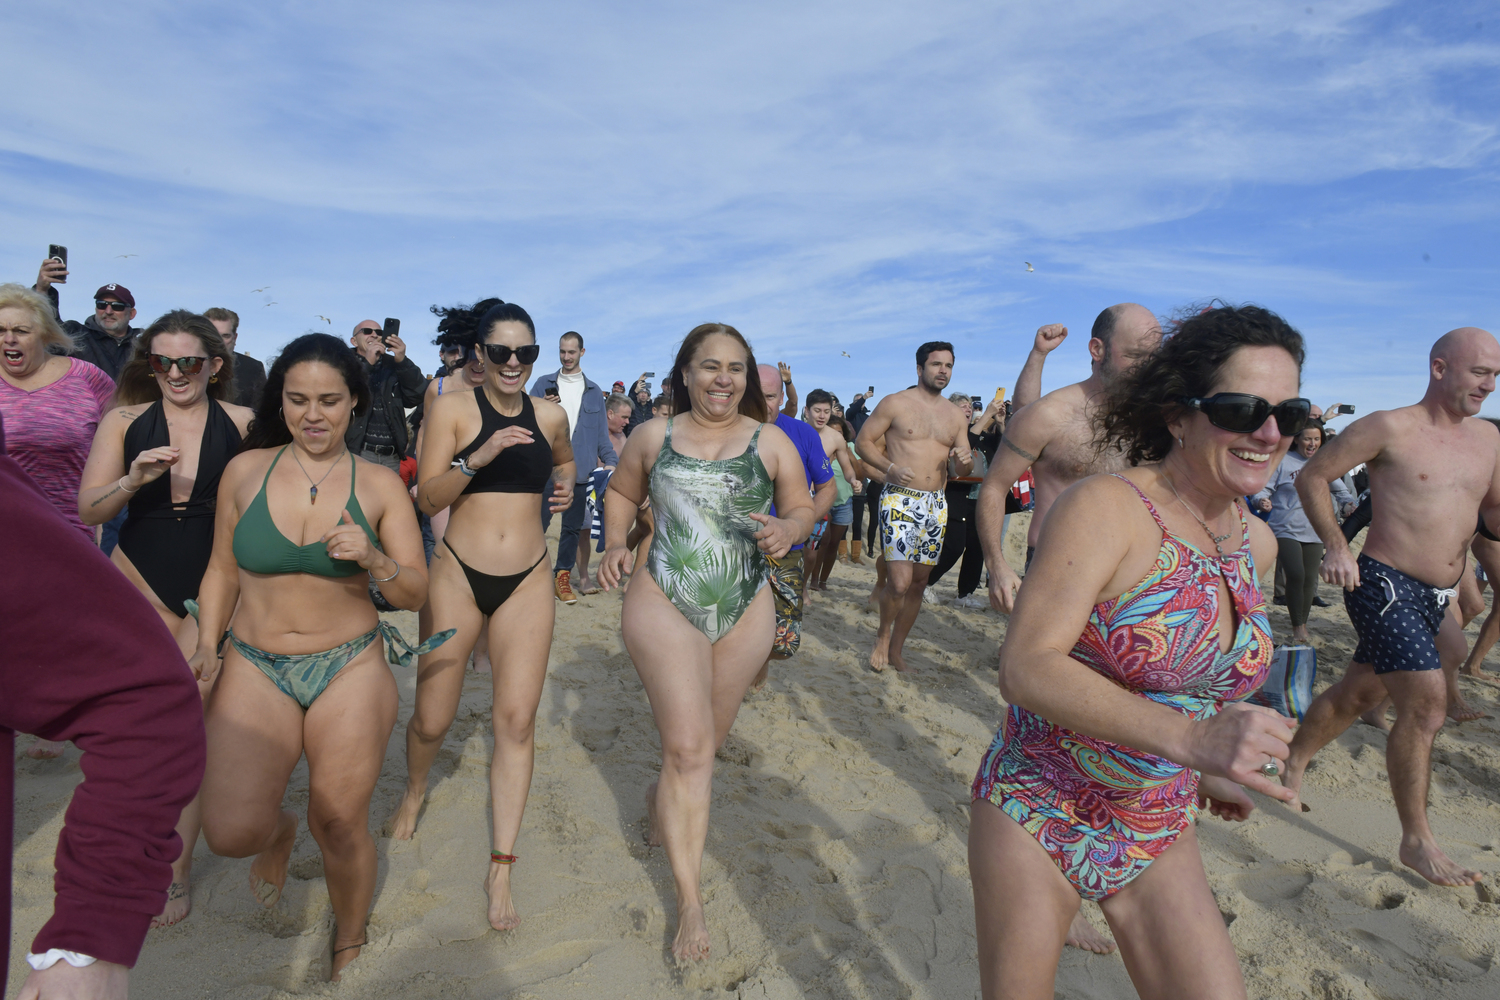
[[[760,424],[764,427],[765,424]],[[774,499],[760,462],[760,427],[732,459],[693,459],[672,448],[672,418],[651,466],[656,535],[646,568],[693,627],[718,642],[770,580],[754,540]]]

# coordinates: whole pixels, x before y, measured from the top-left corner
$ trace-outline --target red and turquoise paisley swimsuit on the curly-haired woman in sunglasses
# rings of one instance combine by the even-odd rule
[[[1244,544],[1220,559],[1170,534],[1146,495],[1131,489],[1161,526],[1156,565],[1094,606],[1071,655],[1140,697],[1208,718],[1264,684],[1270,664],[1245,511],[1236,504]],[[1220,652],[1220,576],[1238,619],[1228,652]],[[1196,771],[1012,705],[980,762],[972,798],[988,799],[1035,837],[1080,897],[1104,900],[1172,847],[1197,814],[1197,792]]]

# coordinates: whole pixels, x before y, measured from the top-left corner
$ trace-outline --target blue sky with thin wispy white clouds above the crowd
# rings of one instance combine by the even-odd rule
[[[64,316],[117,280],[262,358],[399,316],[430,369],[428,306],[501,295],[602,382],[714,319],[804,393],[946,339],[988,396],[1042,322],[1052,388],[1104,306],[1221,297],[1368,412],[1500,328],[1492,3],[86,0],[0,52],[0,276],[64,243]]]

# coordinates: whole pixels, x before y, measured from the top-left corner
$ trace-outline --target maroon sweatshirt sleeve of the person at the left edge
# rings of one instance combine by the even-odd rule
[[[15,732],[72,741],[84,781],[57,838],[57,900],[32,951],[134,966],[166,906],[172,829],[202,781],[202,706],[140,591],[69,525],[0,427],[0,942],[10,943]],[[0,964],[0,994],[9,963]]]

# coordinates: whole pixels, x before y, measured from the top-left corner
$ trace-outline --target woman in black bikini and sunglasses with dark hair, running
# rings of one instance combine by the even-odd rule
[[[542,502],[548,478],[554,513],[573,502],[573,447],[567,414],[526,394],[537,360],[537,330],[513,303],[489,309],[477,328],[484,384],[432,400],[417,468],[417,504],[428,514],[452,505],[447,532],[429,570],[430,628],[458,634],[417,669],[417,706],[406,726],[406,795],[392,835],[410,840],[428,792],[428,771],[458,712],[464,664],[489,618],[495,685],[495,757],[489,789],[494,832],[489,924],[518,924],[510,900],[512,850],[531,790],[532,735],[552,649],[554,592]],[[426,633],[423,633],[426,634]]]

